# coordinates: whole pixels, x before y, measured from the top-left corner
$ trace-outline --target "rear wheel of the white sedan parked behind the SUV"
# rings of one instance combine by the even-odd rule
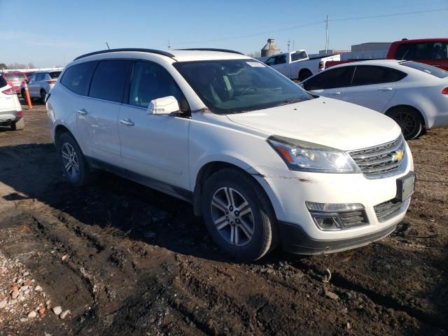
[[[401,127],[406,140],[415,139],[423,130],[423,120],[419,113],[406,106],[397,107],[387,113]]]

